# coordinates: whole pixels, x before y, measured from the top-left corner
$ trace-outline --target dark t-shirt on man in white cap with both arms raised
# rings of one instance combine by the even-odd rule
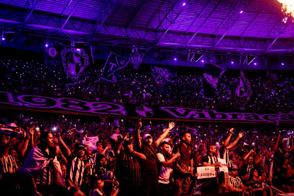
[[[146,156],[146,160],[142,160],[141,174],[142,175],[158,175],[157,157],[156,157],[156,143],[153,142],[151,146],[142,144],[140,153]]]

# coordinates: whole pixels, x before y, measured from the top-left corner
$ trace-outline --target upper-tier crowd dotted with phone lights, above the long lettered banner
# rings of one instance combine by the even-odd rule
[[[294,80],[255,77],[249,102],[234,100],[238,77],[221,76],[214,100],[200,94],[202,76],[178,75],[168,93],[158,93],[151,73],[126,70],[117,83],[101,80],[102,69],[87,68],[79,82],[69,84],[62,66],[45,66],[35,61],[2,60],[0,89],[49,97],[69,97],[115,103],[174,106],[216,110],[293,111]]]

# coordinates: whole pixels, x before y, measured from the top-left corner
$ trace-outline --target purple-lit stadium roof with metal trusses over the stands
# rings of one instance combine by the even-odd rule
[[[277,0],[0,0],[0,28],[137,48],[293,53]]]

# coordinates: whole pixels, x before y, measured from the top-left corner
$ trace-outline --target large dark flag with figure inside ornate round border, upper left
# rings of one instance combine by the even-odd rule
[[[58,49],[64,73],[71,81],[78,81],[83,71],[93,64],[91,46],[85,49],[58,45]]]

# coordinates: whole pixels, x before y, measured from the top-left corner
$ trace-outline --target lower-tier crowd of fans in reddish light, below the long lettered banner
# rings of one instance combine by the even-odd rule
[[[270,186],[294,191],[294,146],[287,146],[288,129],[279,124],[246,130],[37,114],[4,115],[1,123],[2,195],[263,195]],[[220,172],[219,158],[228,172]],[[198,180],[201,166],[215,167],[216,177]]]

